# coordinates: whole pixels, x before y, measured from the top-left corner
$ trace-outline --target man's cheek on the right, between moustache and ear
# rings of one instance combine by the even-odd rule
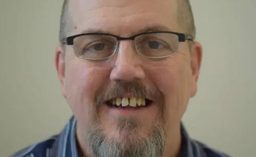
[[[164,97],[165,120],[178,121],[190,98],[191,70],[187,62],[169,60],[164,66],[151,67],[150,78]]]

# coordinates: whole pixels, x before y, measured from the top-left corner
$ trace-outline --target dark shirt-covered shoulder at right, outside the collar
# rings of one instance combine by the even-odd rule
[[[193,150],[199,153],[200,157],[231,157],[223,152],[220,152],[208,147],[206,144],[201,143],[200,141],[193,140],[191,144],[192,144]]]

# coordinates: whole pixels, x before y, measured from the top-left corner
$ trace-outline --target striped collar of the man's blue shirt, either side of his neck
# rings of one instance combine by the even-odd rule
[[[193,149],[193,141],[189,138],[189,135],[181,123],[181,149],[179,157],[200,157],[198,149]],[[76,118],[71,117],[66,127],[60,134],[58,141],[57,157],[78,157],[77,145],[76,145]]]

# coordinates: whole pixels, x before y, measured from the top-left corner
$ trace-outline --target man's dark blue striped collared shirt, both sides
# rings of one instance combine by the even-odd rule
[[[199,141],[190,139],[183,125],[181,125],[181,135],[182,144],[179,157],[229,157]],[[72,116],[59,135],[35,143],[11,157],[78,157],[77,150],[76,119]]]

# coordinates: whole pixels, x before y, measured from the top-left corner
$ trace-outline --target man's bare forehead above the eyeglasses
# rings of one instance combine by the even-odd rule
[[[176,0],[70,0],[69,15],[69,35],[102,31],[124,37],[151,27],[180,31]]]

